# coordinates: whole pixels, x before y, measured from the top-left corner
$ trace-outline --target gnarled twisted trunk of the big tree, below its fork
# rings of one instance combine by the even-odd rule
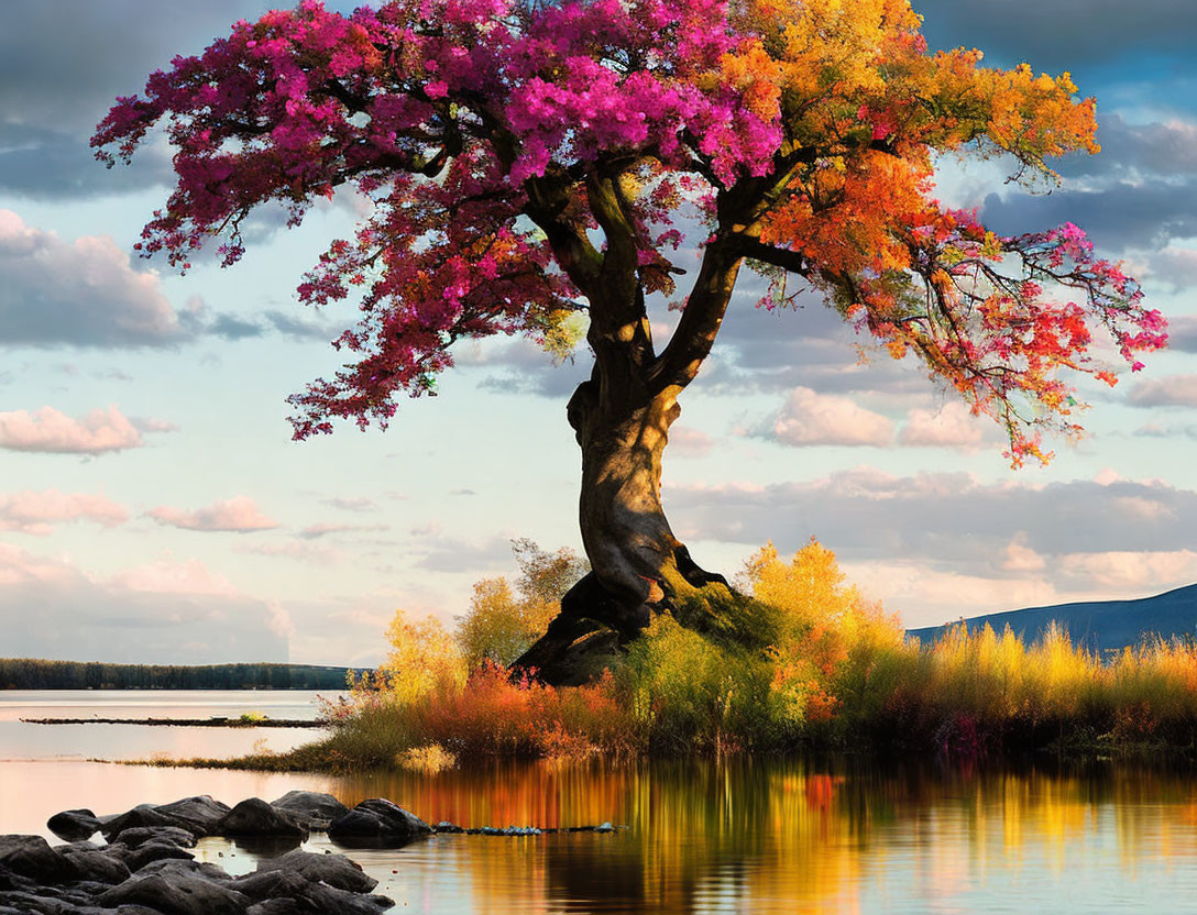
[[[609,666],[654,614],[675,610],[680,588],[729,593],[722,575],[691,560],[661,505],[661,458],[681,413],[680,389],[612,410],[602,405],[595,374],[569,404],[582,447],[579,519],[591,572],[561,599],[545,636],[515,663],[558,685],[585,682]]]

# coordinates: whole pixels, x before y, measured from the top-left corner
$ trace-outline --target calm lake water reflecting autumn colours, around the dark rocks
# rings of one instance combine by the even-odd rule
[[[1003,767],[730,760],[630,765],[473,761],[437,775],[160,769],[91,757],[286,749],[299,730],[26,725],[20,716],[311,718],[314,694],[0,693],[0,832],[98,813],[291,788],[387,797],[427,821],[614,834],[443,835],[348,854],[413,913],[1197,913],[1197,775],[1050,761]],[[132,731],[129,728],[133,728]],[[200,732],[196,734],[183,732]],[[336,847],[322,836],[311,850]],[[208,838],[233,873],[257,856]],[[393,873],[394,872],[394,873]]]

